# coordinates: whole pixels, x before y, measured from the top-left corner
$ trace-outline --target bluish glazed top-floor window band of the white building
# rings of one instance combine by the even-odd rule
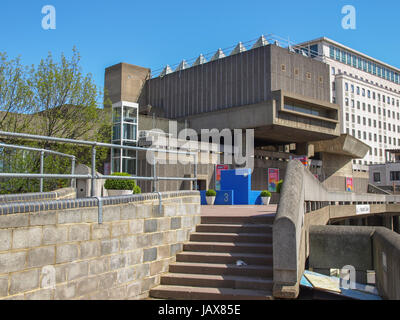
[[[394,83],[400,83],[400,75],[397,72],[387,69],[377,63],[359,58],[354,54],[348,53],[334,46],[330,46],[329,54],[332,59],[335,59],[342,63],[346,63],[349,66],[353,66],[354,68],[369,72],[373,75],[392,81]]]

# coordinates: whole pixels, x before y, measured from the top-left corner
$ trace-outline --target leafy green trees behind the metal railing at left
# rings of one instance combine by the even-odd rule
[[[0,53],[0,130],[50,137],[110,142],[111,114],[99,105],[102,93],[91,74],[84,74],[76,48],[72,56],[57,61],[49,53],[37,66],[25,67],[20,58]],[[90,147],[49,141],[4,139],[3,142],[56,150],[74,155],[77,163],[91,164]],[[97,148],[96,169],[103,171],[109,150]],[[40,172],[40,152],[0,149],[0,170]],[[71,160],[46,155],[45,173],[70,173]],[[45,180],[44,189],[54,190],[68,180]],[[39,180],[3,179],[0,193],[37,192]]]

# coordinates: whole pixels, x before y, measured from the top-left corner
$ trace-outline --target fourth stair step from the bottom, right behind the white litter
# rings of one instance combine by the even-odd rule
[[[183,251],[176,255],[177,262],[236,264],[238,260],[252,265],[272,265],[272,255],[268,254]]]

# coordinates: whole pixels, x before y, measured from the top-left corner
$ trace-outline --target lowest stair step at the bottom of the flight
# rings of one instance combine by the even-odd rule
[[[230,289],[230,288],[208,288],[208,287],[186,287],[186,286],[157,286],[150,290],[150,296],[162,299],[181,300],[271,300],[270,291]],[[199,311],[200,315],[202,310]]]

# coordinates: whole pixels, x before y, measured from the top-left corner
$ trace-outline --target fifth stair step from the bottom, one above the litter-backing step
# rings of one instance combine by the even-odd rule
[[[183,245],[183,251],[270,254],[272,245],[245,242],[188,242]]]

